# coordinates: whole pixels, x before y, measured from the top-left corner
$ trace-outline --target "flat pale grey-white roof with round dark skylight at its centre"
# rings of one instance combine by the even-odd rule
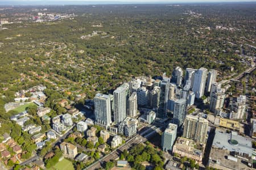
[[[234,143],[230,141],[230,139],[237,142]],[[222,148],[224,150],[248,154],[249,156],[251,156],[252,152],[250,138],[242,137],[234,132],[232,134],[226,133],[226,131],[222,131],[221,129],[216,129],[212,146]]]

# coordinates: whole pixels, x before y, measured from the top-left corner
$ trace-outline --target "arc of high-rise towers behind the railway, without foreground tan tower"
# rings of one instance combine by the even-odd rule
[[[211,92],[212,84],[216,82],[217,71],[186,69],[185,76],[181,67],[176,67],[172,78],[163,74],[162,79],[140,77],[123,83],[113,95],[97,94],[94,97],[96,123],[105,127],[112,122],[121,124],[126,117],[136,117],[139,107],[151,108],[156,111],[156,117],[167,118],[167,113],[173,114],[173,123],[179,128],[183,125],[187,107],[193,105],[195,97],[199,99],[204,92]],[[217,100],[220,97],[217,97]],[[214,98],[215,99],[215,98]],[[220,108],[218,101],[212,101],[212,110]],[[221,102],[222,103],[222,102]]]

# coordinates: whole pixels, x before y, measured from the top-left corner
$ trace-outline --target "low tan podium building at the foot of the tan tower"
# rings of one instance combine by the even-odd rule
[[[181,157],[187,156],[187,158],[191,158],[196,162],[201,163],[204,155],[204,149],[204,143],[196,143],[191,139],[178,137],[172,152],[180,155]]]

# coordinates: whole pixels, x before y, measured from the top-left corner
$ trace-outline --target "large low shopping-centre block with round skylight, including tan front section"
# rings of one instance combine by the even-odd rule
[[[216,129],[208,166],[216,169],[250,169],[251,139],[237,132]]]

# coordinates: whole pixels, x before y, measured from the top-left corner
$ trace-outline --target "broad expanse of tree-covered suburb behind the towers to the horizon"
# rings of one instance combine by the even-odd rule
[[[0,34],[0,82],[6,83],[0,86],[43,82],[71,91],[81,89],[92,98],[94,90],[108,92],[131,75],[170,75],[176,66],[204,66],[223,71],[223,76],[229,73],[228,66],[240,72],[245,67],[235,51],[255,53],[249,46],[255,35],[254,6],[49,7],[51,12],[77,16],[61,22],[5,25],[9,29]],[[36,15],[29,7],[3,12],[11,19],[15,10]],[[220,30],[216,25],[234,29]],[[80,39],[93,31],[106,36]],[[26,76],[21,79],[20,73]],[[47,105],[53,108],[51,101],[56,99],[51,97]]]

